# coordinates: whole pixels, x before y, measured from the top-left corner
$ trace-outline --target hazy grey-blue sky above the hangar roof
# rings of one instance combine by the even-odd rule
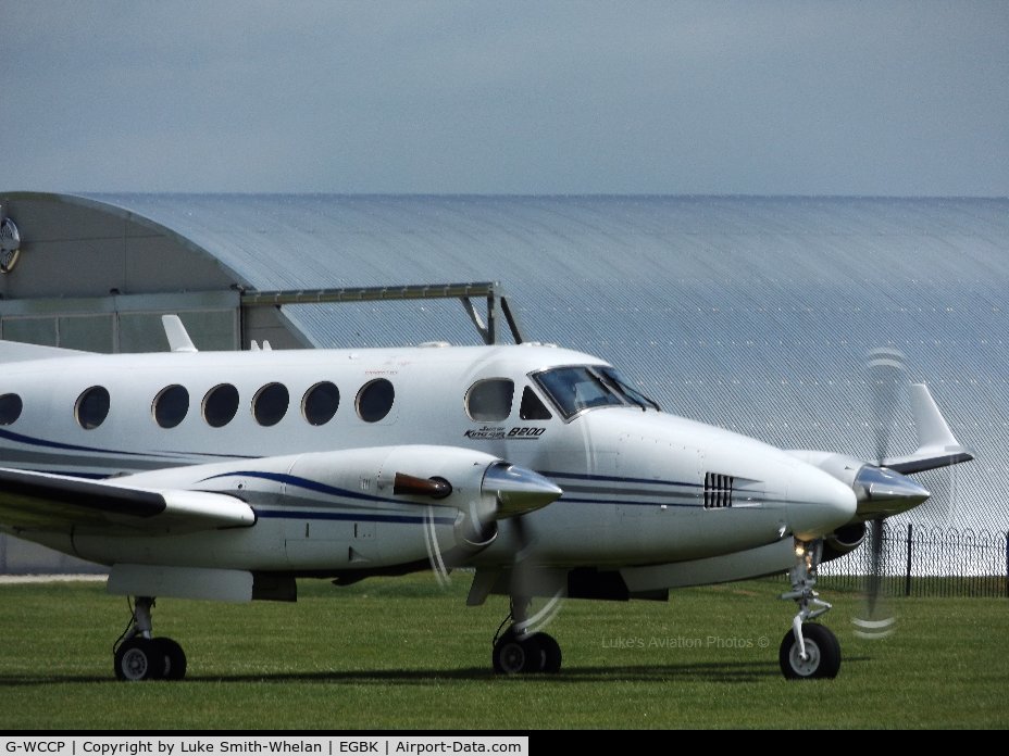
[[[1005,0],[0,0],[0,191],[1009,196]]]

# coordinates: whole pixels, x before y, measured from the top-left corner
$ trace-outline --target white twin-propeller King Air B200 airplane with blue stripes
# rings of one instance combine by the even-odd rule
[[[155,596],[296,600],[296,578],[473,571],[510,596],[495,670],[552,672],[534,598],[667,598],[790,570],[788,678],[834,677],[822,559],[971,458],[924,386],[920,448],[867,463],[662,412],[605,361],[552,345],[95,354],[0,341],[0,529],[109,567],[134,598],[124,680],[179,679]],[[548,604],[549,606],[549,604]],[[541,614],[541,613],[539,613]]]

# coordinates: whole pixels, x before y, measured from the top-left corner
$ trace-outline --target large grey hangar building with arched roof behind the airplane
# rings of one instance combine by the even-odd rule
[[[177,313],[200,349],[548,341],[669,412],[865,459],[881,429],[914,446],[873,401],[885,349],[976,454],[905,517],[1009,526],[1009,199],[0,191],[0,269],[4,339],[165,350]],[[0,537],[0,572],[76,567]]]

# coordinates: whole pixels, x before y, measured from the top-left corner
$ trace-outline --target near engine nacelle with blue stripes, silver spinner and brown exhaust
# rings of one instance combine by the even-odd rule
[[[364,519],[388,522],[388,529],[396,530],[395,545],[386,547],[393,541],[382,540],[354,549],[368,550],[368,563],[382,568],[399,562],[418,562],[425,551],[428,556],[453,552],[458,554],[456,564],[462,564],[466,556],[494,542],[498,520],[538,509],[563,493],[547,478],[494,455],[459,446],[423,444],[211,463],[140,472],[117,481],[165,496],[194,492],[227,494],[245,502],[253,512],[307,513],[307,521],[320,513],[321,522],[333,522],[334,509],[340,512],[341,520],[361,513]],[[416,524],[422,527],[416,528]],[[321,542],[338,541],[339,533],[333,530],[324,534],[325,527],[314,525],[313,537]],[[309,542],[308,525],[304,532],[303,538],[285,538],[279,549],[270,553],[269,549],[261,550],[262,558],[254,567],[290,568],[297,562],[304,569],[328,569],[328,552],[308,547],[313,545]],[[79,544],[85,544],[83,539],[84,536],[78,538]],[[275,545],[276,541],[270,543]],[[117,536],[88,544],[86,558],[96,562],[147,563],[154,558],[148,554],[151,540],[147,538]],[[226,554],[220,545],[212,552],[194,550],[194,564],[198,566],[231,567],[247,560],[246,552]]]

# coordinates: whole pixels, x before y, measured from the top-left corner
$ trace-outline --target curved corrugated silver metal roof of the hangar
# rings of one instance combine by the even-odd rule
[[[256,289],[500,281],[528,338],[781,446],[872,457],[868,354],[899,350],[977,455],[924,478],[926,516],[1009,525],[1007,199],[82,197],[174,230]],[[320,345],[477,340],[451,301],[285,312]],[[890,431],[911,451],[905,410]]]

